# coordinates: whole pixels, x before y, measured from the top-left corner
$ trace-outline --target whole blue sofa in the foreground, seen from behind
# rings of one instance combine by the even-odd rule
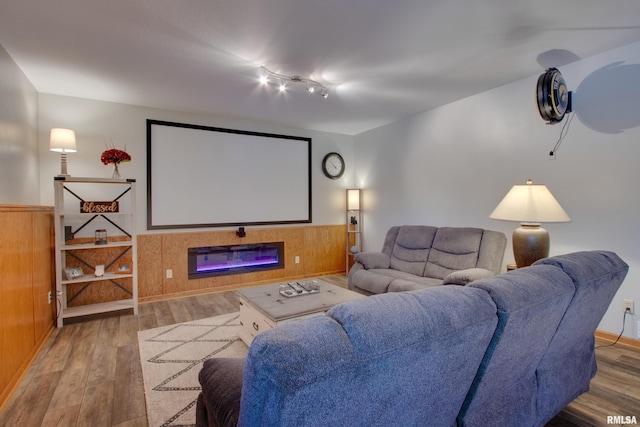
[[[627,270],[578,252],[279,326],[205,362],[197,425],[543,426],[588,390]]]

